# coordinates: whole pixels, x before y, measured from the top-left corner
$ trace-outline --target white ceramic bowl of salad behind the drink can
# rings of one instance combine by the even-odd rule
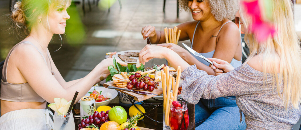
[[[94,87],[92,87],[88,92],[93,92],[93,90],[94,90]],[[95,102],[96,109],[99,106],[108,105],[114,98],[116,98],[116,96],[118,94],[117,90],[115,90],[115,89],[108,89],[108,88],[105,88],[105,87],[95,87],[95,90],[97,90],[98,92],[102,91],[101,95],[103,95],[104,97],[106,97],[107,92],[111,92],[112,93],[112,98],[111,99],[109,99],[107,101],[103,101],[103,102]],[[85,96],[90,96],[90,93],[87,93]]]

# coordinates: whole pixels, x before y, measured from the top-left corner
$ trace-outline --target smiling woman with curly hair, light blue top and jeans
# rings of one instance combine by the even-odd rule
[[[207,58],[219,58],[238,67],[242,58],[240,31],[230,20],[238,10],[237,0],[179,0],[182,10],[191,11],[195,21],[178,25],[181,29],[179,41],[190,40],[191,48]],[[144,39],[149,37],[151,43],[165,43],[164,31],[156,31],[149,25],[142,28]],[[197,69],[216,75],[208,62],[191,55],[182,47],[173,43],[159,44],[172,49],[188,64]],[[244,117],[243,117],[244,118]],[[245,129],[245,122],[239,122],[239,109],[235,96],[217,99],[200,99],[195,105],[195,122],[197,129]]]

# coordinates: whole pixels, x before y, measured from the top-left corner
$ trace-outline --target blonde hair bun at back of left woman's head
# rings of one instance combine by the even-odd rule
[[[22,6],[21,1],[17,1],[16,4],[14,5],[14,9],[12,10],[11,18],[15,22],[25,24],[25,15],[23,13],[21,6]]]

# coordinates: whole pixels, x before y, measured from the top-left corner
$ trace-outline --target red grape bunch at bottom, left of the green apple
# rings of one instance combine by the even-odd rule
[[[100,126],[105,123],[110,121],[109,119],[109,111],[95,111],[93,115],[90,115],[87,118],[83,118],[81,120],[81,123],[78,125],[78,129],[83,129],[86,128],[87,126],[91,126],[91,124],[94,124],[95,126],[98,126],[98,128],[100,128]]]

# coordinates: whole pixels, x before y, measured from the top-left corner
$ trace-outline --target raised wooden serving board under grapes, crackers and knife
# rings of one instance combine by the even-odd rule
[[[103,85],[104,87],[109,87],[109,86],[112,86],[112,87],[117,87],[116,84],[113,83],[113,81],[110,81],[110,82],[107,82]],[[163,90],[162,90],[162,82],[159,82],[159,85],[157,86],[158,89],[154,89],[154,91],[148,91],[148,90],[143,90],[143,89],[140,89],[140,90],[137,90],[137,91],[141,91],[141,92],[147,92],[147,93],[154,93],[154,94],[162,94],[163,93]],[[120,87],[120,88],[125,88],[127,89],[127,87]],[[133,90],[136,90],[135,88],[133,88]],[[117,91],[120,91],[122,93],[126,93],[132,97],[134,97],[134,99],[138,102],[141,102],[143,100],[146,100],[146,99],[149,99],[151,97],[154,97],[154,96],[157,96],[157,95],[151,95],[151,94],[137,94],[137,93],[134,93],[134,92],[129,92],[129,91],[123,91],[123,90],[117,90]]]

